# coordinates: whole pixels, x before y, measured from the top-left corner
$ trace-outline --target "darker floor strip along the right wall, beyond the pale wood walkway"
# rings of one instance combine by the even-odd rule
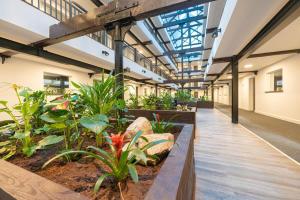
[[[215,104],[215,107],[227,116],[231,116],[230,106]],[[299,124],[241,109],[239,123],[300,163]]]

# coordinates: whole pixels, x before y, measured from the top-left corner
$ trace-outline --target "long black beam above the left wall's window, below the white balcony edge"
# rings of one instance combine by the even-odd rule
[[[79,61],[79,60],[72,59],[72,58],[68,58],[68,57],[65,57],[62,55],[51,53],[51,52],[43,50],[41,48],[37,48],[37,47],[30,46],[30,45],[18,43],[18,42],[12,41],[12,40],[8,40],[6,38],[0,37],[0,47],[9,49],[12,51],[16,51],[19,53],[24,53],[24,54],[28,54],[28,55],[32,55],[32,56],[41,57],[41,58],[55,61],[58,63],[82,67],[84,69],[89,69],[94,72],[101,72],[102,70],[104,70],[105,73],[110,73],[110,70],[103,69],[101,67],[91,65],[91,64]]]

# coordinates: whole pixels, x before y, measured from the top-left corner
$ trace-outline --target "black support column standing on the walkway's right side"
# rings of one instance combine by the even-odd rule
[[[236,56],[231,58],[232,71],[232,97],[231,97],[231,120],[232,123],[239,123],[239,62]]]

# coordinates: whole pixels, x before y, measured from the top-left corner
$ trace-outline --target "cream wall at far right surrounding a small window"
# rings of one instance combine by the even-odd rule
[[[282,69],[283,92],[265,93],[269,82],[267,73]],[[255,80],[255,111],[271,117],[300,124],[300,55],[293,55],[260,70]]]

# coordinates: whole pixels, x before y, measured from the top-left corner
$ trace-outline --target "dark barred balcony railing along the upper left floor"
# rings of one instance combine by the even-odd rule
[[[87,11],[72,0],[22,0],[29,5],[39,9],[40,11],[50,15],[51,17],[59,20],[65,21],[76,15],[86,13]],[[99,31],[95,33],[88,34],[88,36],[97,42],[113,49],[113,41],[110,35],[106,31]],[[136,48],[133,48],[129,44],[125,44],[124,56],[128,59],[138,63],[145,69],[148,69],[166,79],[169,79],[164,71],[157,68],[152,64],[151,60],[146,58],[144,55],[139,53]]]

